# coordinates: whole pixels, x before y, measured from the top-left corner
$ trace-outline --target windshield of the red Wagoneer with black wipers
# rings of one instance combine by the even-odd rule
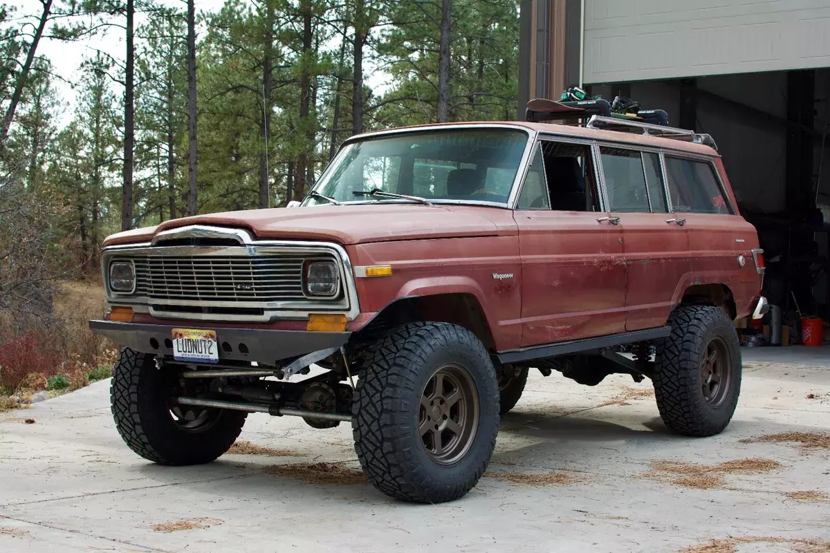
[[[315,192],[341,203],[408,201],[368,196],[380,190],[427,201],[506,204],[527,134],[509,129],[410,132],[344,146]],[[310,196],[303,205],[325,198]]]

